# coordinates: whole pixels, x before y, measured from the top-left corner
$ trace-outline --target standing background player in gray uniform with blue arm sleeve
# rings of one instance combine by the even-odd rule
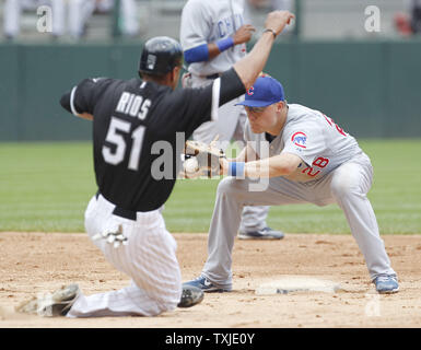
[[[246,45],[255,31],[245,24],[244,0],[189,0],[183,9],[180,42],[188,74],[183,79],[185,88],[209,85],[213,80],[246,55]],[[210,143],[217,136],[225,151],[232,139],[244,145],[244,109],[235,107],[243,97],[220,107],[226,116],[202,124],[192,133],[197,141]],[[239,238],[280,240],[283,233],[267,226],[269,207],[245,207],[239,228]]]

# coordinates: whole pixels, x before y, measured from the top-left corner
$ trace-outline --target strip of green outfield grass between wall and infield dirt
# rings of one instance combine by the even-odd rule
[[[382,233],[421,233],[421,140],[365,140],[369,194]],[[83,232],[96,191],[90,142],[0,143],[0,231]],[[207,232],[218,180],[178,180],[165,205],[171,232]],[[272,228],[289,233],[349,233],[337,206],[272,207]]]

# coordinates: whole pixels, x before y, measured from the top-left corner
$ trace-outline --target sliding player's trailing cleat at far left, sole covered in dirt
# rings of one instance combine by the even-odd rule
[[[19,313],[43,317],[66,316],[80,294],[78,284],[61,287],[52,294],[46,294],[22,303],[15,310]]]

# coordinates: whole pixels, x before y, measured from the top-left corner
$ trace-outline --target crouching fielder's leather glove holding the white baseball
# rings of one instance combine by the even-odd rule
[[[224,151],[217,147],[217,139],[210,144],[200,141],[186,141],[184,175],[187,178],[207,176],[212,178],[221,175],[220,159],[225,158]]]

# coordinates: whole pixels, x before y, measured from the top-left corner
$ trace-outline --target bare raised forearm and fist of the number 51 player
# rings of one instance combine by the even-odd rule
[[[274,38],[280,34],[286,24],[295,16],[290,11],[270,12],[265,22],[266,31],[255,44],[252,51],[234,65],[234,69],[248,90],[264,70],[272,48]]]

